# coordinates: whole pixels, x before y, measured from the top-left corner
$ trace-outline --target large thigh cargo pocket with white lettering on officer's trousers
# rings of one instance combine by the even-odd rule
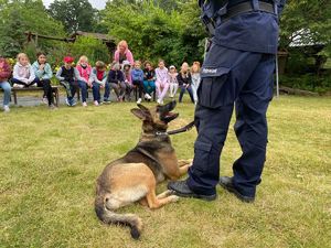
[[[201,72],[201,84],[197,89],[199,104],[207,108],[218,108],[227,101],[224,93],[229,68],[204,67]]]

